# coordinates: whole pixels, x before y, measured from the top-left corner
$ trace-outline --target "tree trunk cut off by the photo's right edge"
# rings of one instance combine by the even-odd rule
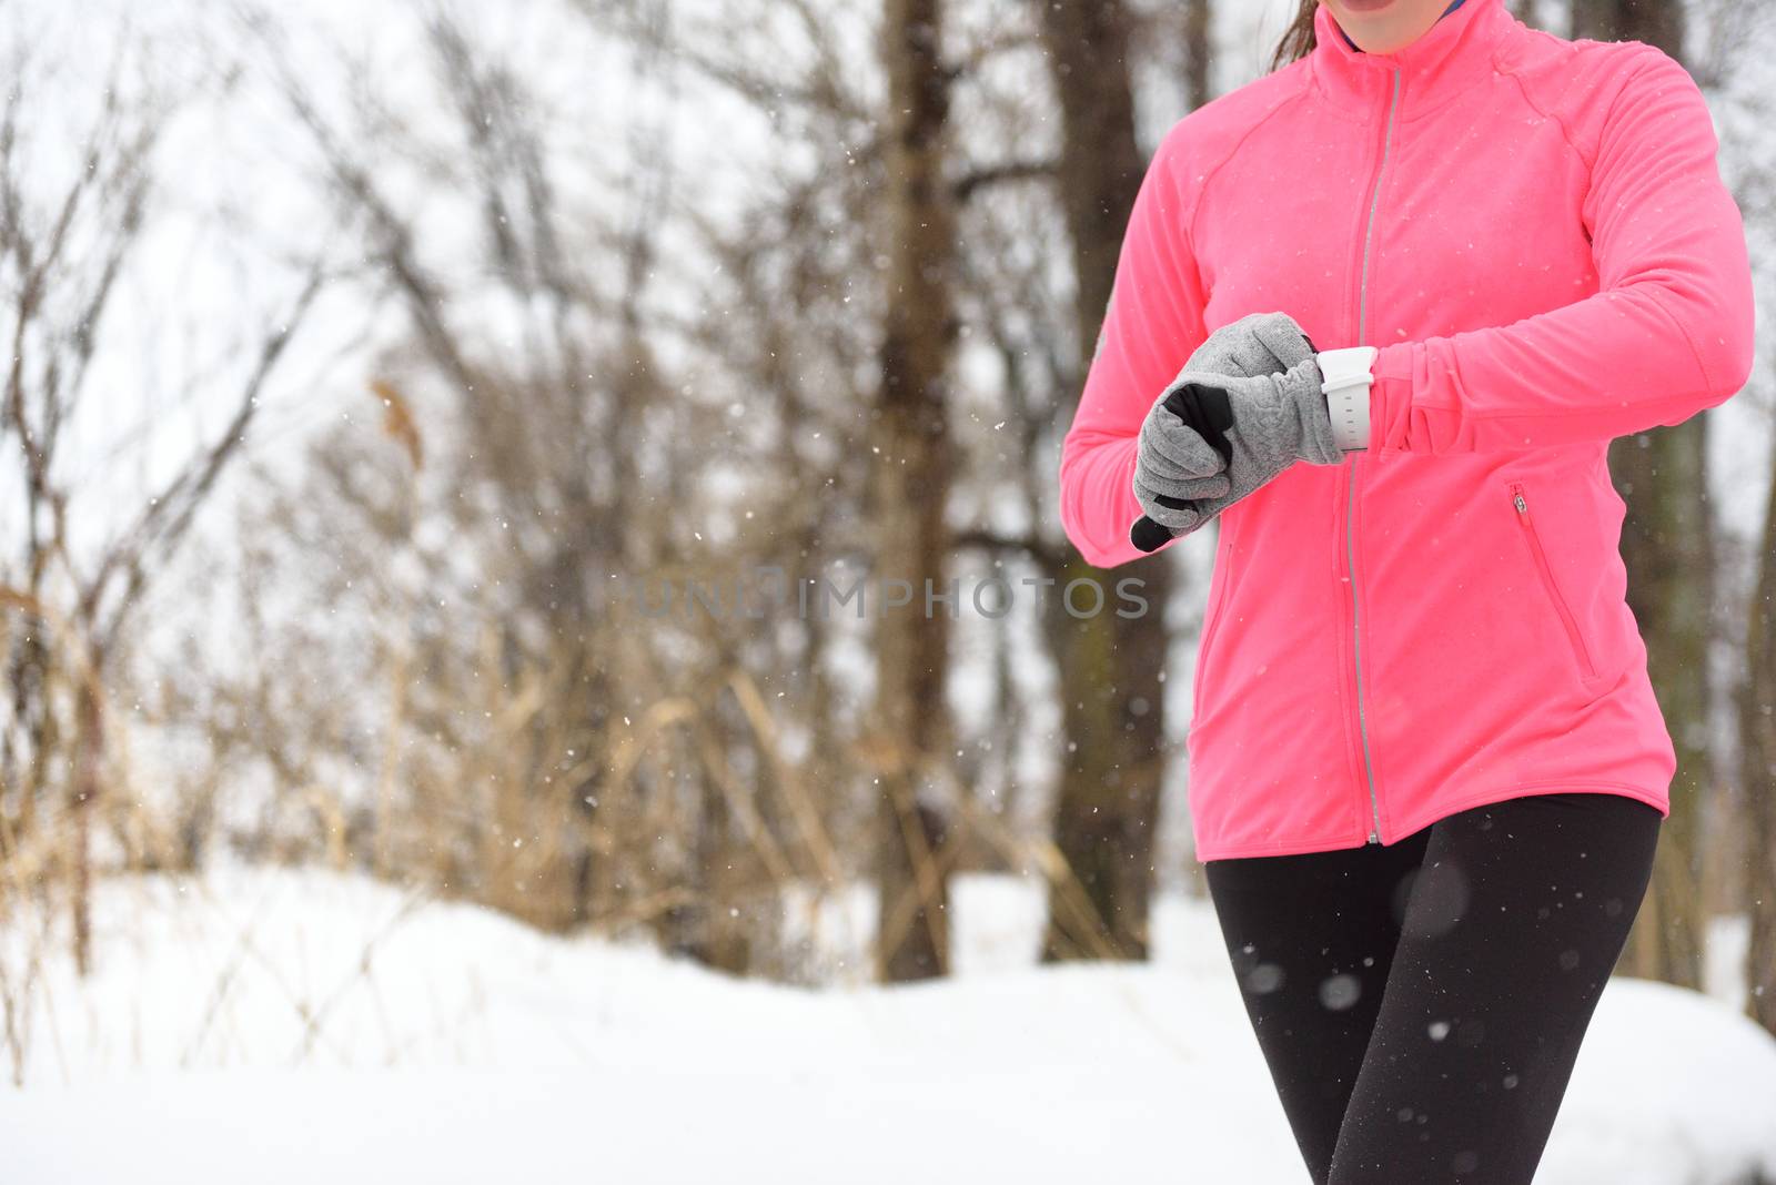
[[[1746,628],[1748,678],[1740,685],[1739,733],[1744,745],[1746,1011],[1776,1034],[1776,479],[1764,513],[1764,546]]]

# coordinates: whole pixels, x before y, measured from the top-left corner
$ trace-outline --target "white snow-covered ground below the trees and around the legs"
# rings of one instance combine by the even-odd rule
[[[1035,969],[1035,887],[966,878],[955,979],[828,990],[327,873],[99,905],[91,981],[52,953],[28,992],[7,1185],[1304,1178],[1213,915],[1181,896],[1154,965]],[[1753,1171],[1776,1180],[1776,1041],[1614,981],[1538,1181]]]

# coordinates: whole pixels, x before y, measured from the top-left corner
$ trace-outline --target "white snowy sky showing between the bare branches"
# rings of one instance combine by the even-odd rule
[[[952,32],[989,27],[1002,0],[970,0]],[[1140,0],[1160,9],[1169,0]],[[620,181],[636,154],[670,161],[671,200],[721,211],[755,184],[753,165],[778,151],[757,112],[741,99],[686,75],[659,85],[654,67],[636,51],[600,37],[575,11],[574,0],[460,0],[446,5],[494,57],[522,64],[526,83],[551,112],[551,169],[558,190],[588,218],[634,216],[634,197]],[[1217,85],[1231,89],[1256,76],[1268,59],[1288,0],[1218,5]],[[82,543],[108,536],[119,514],[140,504],[208,440],[233,410],[234,392],[258,353],[268,325],[289,307],[316,250],[341,268],[361,263],[352,227],[337,224],[337,206],[316,183],[320,167],[307,133],[275,87],[272,64],[282,62],[320,101],[336,126],[353,129],[353,96],[375,94],[389,117],[439,153],[453,151],[458,117],[439,90],[437,69],[423,44],[417,0],[20,0],[0,11],[5,44],[32,46],[27,87],[25,145],[32,184],[55,195],[78,169],[75,145],[89,126],[103,82],[119,50],[149,66],[162,94],[178,101],[158,149],[162,216],[123,279],[119,300],[101,337],[87,413],[76,422],[71,454],[87,475],[75,522]],[[861,0],[835,0],[833,20],[849,30],[860,78],[872,78],[872,46],[860,20]],[[1701,12],[1703,9],[1698,9]],[[691,30],[732,14],[723,0],[673,0],[670,23]],[[277,39],[254,32],[270,16]],[[744,28],[739,44],[757,43],[762,60],[792,55],[789,30]],[[1771,37],[1764,43],[1769,48]],[[1712,96],[1724,140],[1730,177],[1751,165],[1776,169],[1762,83],[1772,55],[1744,46],[1753,67],[1740,71],[1728,94]],[[133,78],[124,71],[124,78]],[[1144,76],[1140,122],[1153,144],[1181,115],[1176,78]],[[1762,160],[1755,160],[1762,156]],[[421,225],[421,257],[444,275],[460,270],[478,216],[460,195],[408,167],[389,163],[378,184]],[[1776,218],[1746,209],[1765,307],[1776,282]],[[670,241],[670,239],[668,239]],[[1058,266],[1058,257],[1057,257]],[[698,305],[698,277],[662,273],[655,302],[686,312]],[[501,325],[506,310],[485,310],[485,326]],[[323,298],[295,339],[288,365],[266,392],[252,433],[250,454],[270,465],[297,465],[302,443],[320,428],[353,419],[375,429],[380,408],[368,396],[375,351],[400,337],[400,314],[380,309],[357,286],[337,286]],[[1753,387],[1710,413],[1717,507],[1730,532],[1751,538],[1762,516],[1771,474],[1771,330],[1760,319],[1764,365]],[[499,344],[499,332],[492,332]],[[210,539],[222,539],[236,522],[226,486],[204,518]],[[16,529],[16,509],[0,506],[0,530]],[[1190,596],[1206,589],[1208,532],[1183,548],[1197,578]],[[188,577],[190,573],[185,573]],[[179,587],[174,580],[169,587]],[[218,619],[170,619],[178,646],[192,630],[210,630],[210,644],[227,632]],[[1188,639],[1185,639],[1188,642]],[[1172,720],[1186,717],[1188,662],[1181,644],[1172,663]],[[1732,663],[1732,655],[1723,656]],[[1032,676],[1034,678],[1034,676]],[[966,697],[966,681],[963,685]],[[1177,798],[1177,797],[1174,797]],[[1179,820],[1170,818],[1176,836]]]

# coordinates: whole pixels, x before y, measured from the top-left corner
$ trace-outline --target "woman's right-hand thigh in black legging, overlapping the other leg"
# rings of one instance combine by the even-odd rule
[[[1559,793],[1430,828],[1332,1185],[1529,1185],[1659,820],[1623,795]]]

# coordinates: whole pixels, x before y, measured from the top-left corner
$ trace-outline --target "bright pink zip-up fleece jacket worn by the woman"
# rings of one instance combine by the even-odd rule
[[[1744,225],[1701,92],[1641,43],[1467,0],[1396,53],[1332,14],[1165,135],[1060,461],[1067,538],[1138,555],[1147,408],[1284,310],[1376,346],[1371,438],[1231,506],[1197,651],[1197,859],[1394,843],[1472,805],[1677,763],[1625,600],[1607,443],[1744,387]]]

